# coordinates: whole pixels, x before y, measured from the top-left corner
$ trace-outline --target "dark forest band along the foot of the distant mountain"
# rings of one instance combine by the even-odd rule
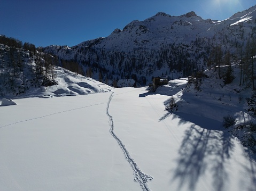
[[[77,47],[76,47],[77,48]],[[103,48],[78,47],[69,49],[74,51],[74,60],[83,65],[84,71],[97,73],[103,81],[120,79],[134,79],[139,84],[146,85],[156,71],[171,76],[173,72],[191,76],[191,73],[202,70],[207,55],[204,53],[192,55],[190,47],[184,44],[162,44],[161,47],[134,48],[132,52],[108,51]],[[67,53],[68,54],[68,53]],[[70,53],[72,54],[72,53]]]

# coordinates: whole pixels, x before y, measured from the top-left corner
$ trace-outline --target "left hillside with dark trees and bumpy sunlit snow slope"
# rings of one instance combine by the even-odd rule
[[[111,90],[102,82],[57,67],[58,59],[40,49],[24,47],[26,44],[23,47],[0,44],[0,97],[71,96]],[[76,65],[66,67],[74,69]]]

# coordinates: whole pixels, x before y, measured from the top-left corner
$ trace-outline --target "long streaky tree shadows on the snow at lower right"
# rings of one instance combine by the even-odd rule
[[[180,124],[195,124],[185,130],[172,181],[179,181],[180,187],[186,185],[189,190],[195,190],[198,180],[207,175],[211,176],[214,190],[223,191],[229,182],[224,164],[234,149],[234,138],[228,132],[220,131],[221,122],[216,120],[185,113],[174,114],[173,118],[179,118]]]

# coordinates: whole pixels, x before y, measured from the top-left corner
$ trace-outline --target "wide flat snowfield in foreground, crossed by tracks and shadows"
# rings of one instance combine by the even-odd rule
[[[165,110],[186,85],[14,99],[0,107],[0,190],[255,190],[255,159],[222,113]]]

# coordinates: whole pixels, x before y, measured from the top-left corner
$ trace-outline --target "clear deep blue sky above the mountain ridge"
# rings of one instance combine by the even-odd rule
[[[133,20],[158,12],[179,16],[195,11],[224,20],[255,0],[0,0],[0,34],[38,46],[74,46],[107,37]]]

